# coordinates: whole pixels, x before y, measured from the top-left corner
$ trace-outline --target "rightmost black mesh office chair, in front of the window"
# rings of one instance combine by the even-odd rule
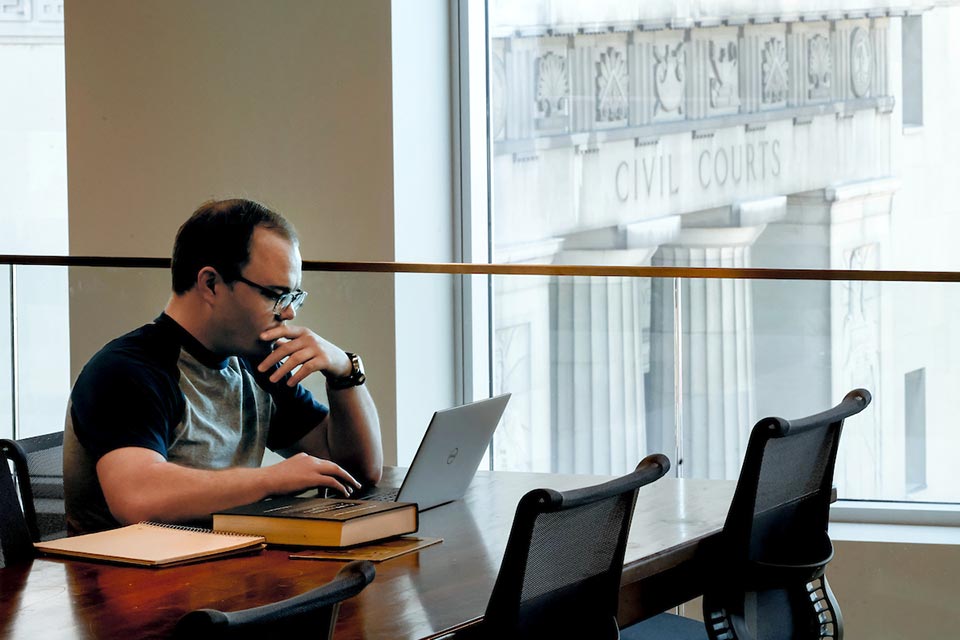
[[[711,640],[842,640],[827,578],[833,470],[843,421],[870,404],[854,389],[828,411],[754,426],[703,596]]]

